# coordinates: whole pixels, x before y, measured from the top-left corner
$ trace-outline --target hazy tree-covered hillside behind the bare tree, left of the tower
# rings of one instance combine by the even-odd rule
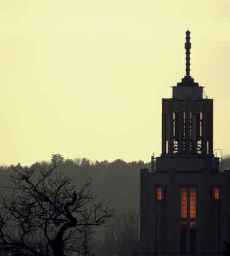
[[[56,171],[63,176],[73,178],[78,186],[85,180],[91,180],[90,193],[98,195],[98,199],[110,201],[110,207],[116,212],[128,212],[128,209],[139,212],[140,204],[140,168],[150,169],[150,163],[143,161],[125,162],[117,159],[113,162],[96,161],[89,159],[64,159],[60,154],[54,154],[47,164],[56,162]],[[40,167],[44,162],[36,162],[34,167]],[[11,172],[11,167],[0,167],[0,183],[6,185],[6,178]],[[0,188],[0,190],[2,190]]]

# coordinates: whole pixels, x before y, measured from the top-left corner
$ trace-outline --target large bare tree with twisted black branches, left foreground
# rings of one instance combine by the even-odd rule
[[[66,256],[85,254],[86,234],[104,225],[113,212],[108,202],[93,204],[86,182],[77,187],[58,174],[55,165],[13,167],[0,200],[0,252],[13,255]]]

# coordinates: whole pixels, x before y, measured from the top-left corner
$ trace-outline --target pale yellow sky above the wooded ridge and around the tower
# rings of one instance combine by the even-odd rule
[[[229,154],[229,13],[229,0],[0,0],[0,164],[159,155],[188,28]]]

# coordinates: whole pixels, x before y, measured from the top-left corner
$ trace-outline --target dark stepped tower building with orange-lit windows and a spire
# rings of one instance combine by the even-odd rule
[[[230,173],[213,154],[213,100],[190,76],[162,100],[162,154],[140,174],[140,255],[221,254],[230,242]]]

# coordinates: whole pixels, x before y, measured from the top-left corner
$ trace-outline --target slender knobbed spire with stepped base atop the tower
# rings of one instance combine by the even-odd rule
[[[190,76],[190,49],[191,49],[191,42],[190,42],[190,31],[187,30],[186,32],[186,42],[185,42],[185,49],[186,49],[186,75],[182,78],[182,82],[178,82],[177,86],[199,86],[197,82],[194,82],[194,79]]]

